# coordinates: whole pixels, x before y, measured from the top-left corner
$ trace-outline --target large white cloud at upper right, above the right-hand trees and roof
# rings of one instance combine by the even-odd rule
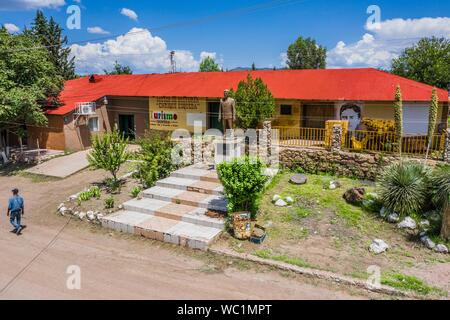
[[[391,19],[366,24],[362,38],[354,43],[339,41],[329,51],[327,64],[335,67],[389,68],[393,58],[422,37],[449,37],[450,18]]]

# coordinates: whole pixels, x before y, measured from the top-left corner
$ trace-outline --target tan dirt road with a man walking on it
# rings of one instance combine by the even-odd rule
[[[185,249],[110,234],[78,221],[62,229],[68,218],[56,216],[58,203],[103,175],[86,170],[65,180],[46,182],[0,177],[0,299],[367,298],[364,292],[237,262],[220,267],[206,253],[186,253]],[[26,203],[28,228],[20,237],[9,232],[6,219],[13,186],[21,190]],[[60,230],[51,246],[38,255]],[[66,286],[71,265],[80,267],[81,290]]]

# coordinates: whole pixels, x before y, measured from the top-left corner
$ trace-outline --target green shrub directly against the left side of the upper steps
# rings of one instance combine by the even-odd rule
[[[141,150],[138,159],[137,177],[145,188],[152,187],[157,180],[165,178],[176,169],[172,163],[173,143],[160,133],[147,133],[138,141]]]

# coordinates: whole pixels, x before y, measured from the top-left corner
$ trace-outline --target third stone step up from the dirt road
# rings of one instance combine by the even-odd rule
[[[218,212],[227,212],[227,200],[221,195],[210,195],[155,186],[144,190],[143,196],[176,204],[184,204]]]

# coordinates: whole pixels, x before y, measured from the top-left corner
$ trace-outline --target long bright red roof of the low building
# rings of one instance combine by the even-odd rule
[[[63,105],[47,113],[63,115],[73,111],[77,102],[103,96],[218,98],[224,89],[236,89],[248,74],[262,78],[277,99],[392,101],[399,84],[404,101],[430,101],[432,90],[429,85],[376,69],[100,75],[95,83],[89,77],[66,81],[60,97]],[[447,91],[439,89],[438,95],[440,101],[447,101]]]

